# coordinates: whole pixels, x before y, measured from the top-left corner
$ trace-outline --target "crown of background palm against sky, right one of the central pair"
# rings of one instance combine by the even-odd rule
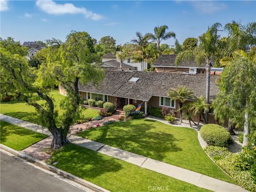
[[[160,44],[162,40],[167,40],[169,38],[174,38],[176,37],[176,34],[173,31],[167,32],[166,30],[169,29],[168,26],[163,25],[160,27],[155,27],[154,28],[154,34],[148,33],[147,35],[157,43],[157,49],[160,51]]]

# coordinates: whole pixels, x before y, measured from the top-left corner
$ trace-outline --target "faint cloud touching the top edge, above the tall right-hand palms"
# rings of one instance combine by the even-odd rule
[[[222,2],[213,1],[191,1],[192,5],[201,13],[214,13],[227,8],[227,5]]]

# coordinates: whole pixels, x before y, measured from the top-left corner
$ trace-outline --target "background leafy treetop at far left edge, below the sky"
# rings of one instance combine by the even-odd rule
[[[12,37],[7,37],[6,39],[0,38],[0,47],[6,49],[11,54],[19,54],[21,56],[28,54],[28,47],[22,46],[20,42],[15,42]]]

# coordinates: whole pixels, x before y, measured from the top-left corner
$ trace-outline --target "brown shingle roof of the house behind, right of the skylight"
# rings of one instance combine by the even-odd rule
[[[157,60],[152,64],[152,67],[176,67],[175,66],[175,59],[177,55],[175,54],[162,54],[157,58]],[[195,61],[183,61],[179,64],[178,67],[202,67],[198,66]]]

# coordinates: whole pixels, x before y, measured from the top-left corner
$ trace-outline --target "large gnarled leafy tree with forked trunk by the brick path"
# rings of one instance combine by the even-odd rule
[[[28,105],[35,107],[42,124],[53,135],[51,147],[56,149],[69,142],[67,134],[70,125],[81,114],[78,82],[98,84],[102,81],[103,70],[92,65],[100,58],[94,51],[91,36],[86,32],[71,31],[65,43],[49,46],[47,50],[46,62],[37,70],[29,67],[25,57],[1,48],[1,73],[12,77],[12,86]],[[60,85],[67,91],[67,97],[60,102],[62,115],[55,109],[49,94],[54,85]],[[43,104],[37,102],[35,94],[44,101]]]

